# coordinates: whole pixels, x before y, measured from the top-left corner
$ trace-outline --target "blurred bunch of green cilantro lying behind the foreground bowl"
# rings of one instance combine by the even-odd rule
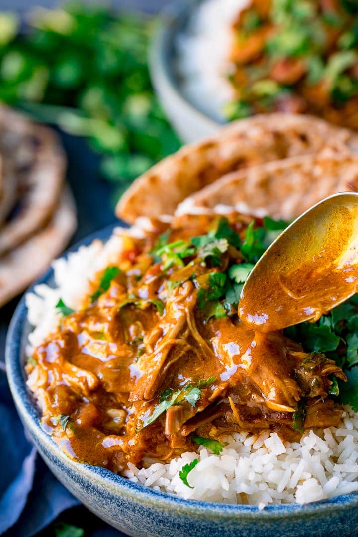
[[[150,82],[154,21],[98,4],[34,9],[21,32],[0,13],[0,101],[84,136],[118,198],[180,143]]]

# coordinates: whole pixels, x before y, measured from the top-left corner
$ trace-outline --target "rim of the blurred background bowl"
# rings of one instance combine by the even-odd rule
[[[149,71],[151,81],[159,95],[162,92],[166,93],[174,105],[185,109],[196,120],[202,124],[206,124],[209,129],[213,129],[227,124],[228,121],[214,119],[196,107],[185,96],[176,82],[176,76],[174,75],[170,61],[173,35],[178,34],[181,22],[187,18],[189,11],[201,2],[203,0],[171,2],[159,12],[156,32],[149,48]]]

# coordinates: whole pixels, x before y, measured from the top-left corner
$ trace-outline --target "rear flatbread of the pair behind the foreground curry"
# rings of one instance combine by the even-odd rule
[[[130,223],[138,216],[173,214],[182,200],[227,173],[322,151],[358,154],[358,135],[308,115],[276,113],[239,120],[215,137],[180,149],[136,179],[116,214]]]

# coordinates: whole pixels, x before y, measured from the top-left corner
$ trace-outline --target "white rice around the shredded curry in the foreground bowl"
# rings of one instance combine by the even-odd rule
[[[146,221],[143,226],[147,226]],[[142,233],[141,227],[132,228],[130,233]],[[35,293],[26,296],[28,318],[34,325],[28,338],[29,354],[56,328],[59,298],[76,308],[89,290],[89,280],[114,262],[121,244],[120,234],[113,234],[105,245],[95,241],[70,253],[67,259],[54,261],[57,287],[39,285]],[[32,375],[30,388],[31,384]],[[223,444],[220,456],[200,447],[199,455],[184,453],[165,465],[147,461],[148,467],[138,470],[129,463],[124,475],[182,498],[258,505],[260,509],[269,504],[304,504],[358,490],[358,414],[349,407],[345,407],[338,427],[306,432],[300,442],[283,442],[277,433],[258,436],[241,432],[228,435]],[[189,473],[193,487],[189,488],[179,471],[196,458],[199,463]]]

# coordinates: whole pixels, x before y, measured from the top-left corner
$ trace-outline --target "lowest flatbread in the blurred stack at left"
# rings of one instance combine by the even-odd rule
[[[69,191],[47,226],[0,259],[0,307],[47,269],[76,229],[76,210]]]

